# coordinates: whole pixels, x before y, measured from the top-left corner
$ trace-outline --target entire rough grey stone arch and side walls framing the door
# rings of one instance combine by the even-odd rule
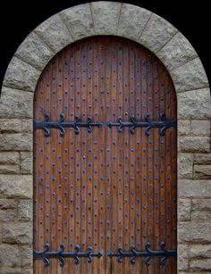
[[[80,4],[40,24],[14,54],[0,100],[0,273],[32,273],[33,92],[64,46],[117,35],[148,47],[178,99],[178,272],[211,273],[211,101],[195,50],[169,22],[138,6]],[[197,35],[197,33],[196,33]]]

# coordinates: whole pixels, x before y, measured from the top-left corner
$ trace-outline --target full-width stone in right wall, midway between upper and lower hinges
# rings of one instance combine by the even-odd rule
[[[211,196],[211,180],[178,180],[179,197],[208,198]]]

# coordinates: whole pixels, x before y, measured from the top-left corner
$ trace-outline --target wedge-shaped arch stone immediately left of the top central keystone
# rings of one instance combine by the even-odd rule
[[[74,40],[95,35],[90,4],[79,4],[60,14]]]

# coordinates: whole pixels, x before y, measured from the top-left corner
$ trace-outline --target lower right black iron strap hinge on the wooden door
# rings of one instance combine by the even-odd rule
[[[145,251],[137,251],[134,246],[131,246],[131,252],[124,252],[122,251],[122,247],[118,247],[119,253],[109,252],[107,255],[110,258],[117,257],[118,262],[122,262],[122,259],[125,257],[130,257],[131,264],[136,262],[136,257],[147,257],[145,260],[147,266],[150,265],[150,261],[153,257],[161,257],[159,264],[164,266],[167,258],[177,256],[176,250],[165,249],[165,243],[161,243],[160,248],[161,250],[151,250],[150,244],[147,243],[145,245]]]

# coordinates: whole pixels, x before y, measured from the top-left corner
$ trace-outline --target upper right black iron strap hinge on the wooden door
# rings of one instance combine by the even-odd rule
[[[159,128],[160,136],[165,135],[165,129],[176,128],[176,119],[173,120],[165,120],[165,112],[160,112],[159,117],[160,120],[154,121],[150,120],[150,114],[145,114],[145,121],[138,121],[135,119],[134,115],[131,115],[131,121],[122,121],[120,117],[117,122],[109,121],[107,126],[109,128],[117,127],[118,132],[122,132],[122,128],[129,127],[131,134],[135,133],[136,128],[146,128],[145,135],[149,136],[150,129]]]

